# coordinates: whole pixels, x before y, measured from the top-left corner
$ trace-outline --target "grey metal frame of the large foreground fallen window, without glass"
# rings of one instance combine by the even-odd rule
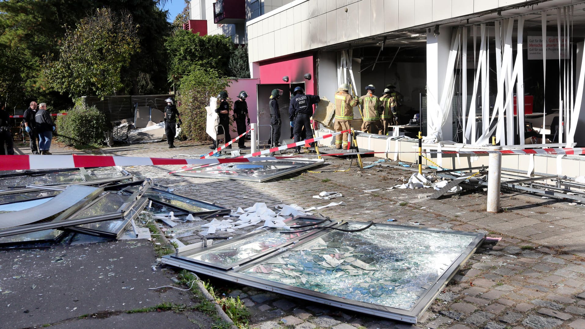
[[[364,225],[363,222],[359,221],[338,222],[339,226],[345,224]],[[426,292],[415,301],[414,306],[411,307],[410,310],[382,306],[380,304],[359,302],[357,300],[351,300],[339,296],[328,295],[326,293],[316,292],[314,290],[309,290],[306,288],[299,288],[295,286],[286,285],[280,282],[256,278],[254,276],[242,273],[242,271],[245,271],[247,268],[266,262],[271,258],[278,257],[278,255],[287,252],[288,248],[281,248],[280,250],[276,250],[274,252],[271,252],[270,254],[264,255],[263,257],[256,258],[253,261],[247,262],[247,264],[233,266],[231,269],[227,271],[215,268],[213,266],[199,264],[198,262],[194,262],[193,259],[186,261],[183,258],[177,257],[177,255],[166,255],[162,258],[162,262],[167,265],[173,265],[179,268],[187,269],[188,271],[209,275],[214,278],[228,280],[230,282],[238,282],[239,284],[242,285],[252,286],[254,288],[263,289],[270,292],[281,293],[286,296],[297,297],[300,299],[309,300],[311,302],[340,307],[342,309],[388,318],[391,320],[398,320],[416,324],[419,316],[421,316],[421,314],[424,313],[424,311],[431,305],[433,300],[447,285],[449,280],[452,279],[453,276],[455,276],[455,273],[460,268],[460,266],[474,254],[474,252],[477,250],[477,248],[483,242],[486,236],[486,234],[484,233],[439,230],[436,228],[417,228],[412,226],[402,226],[386,223],[376,223],[375,225],[381,227],[393,227],[397,230],[412,230],[422,232],[433,231],[436,233],[464,235],[472,237],[472,241],[469,243],[469,245],[467,245],[466,248],[464,248],[464,250],[459,254],[459,256],[457,256],[451,262],[451,264],[448,266],[448,268],[445,269],[445,271],[439,276],[439,278],[436,279],[435,282],[433,282],[428,289],[426,289]],[[295,248],[298,248],[304,245],[305,243],[310,243],[314,239],[322,237],[327,233],[328,233],[327,230],[319,230],[319,233],[312,234],[311,237],[298,241],[298,244],[295,246]],[[235,238],[232,240],[237,241],[239,239],[240,238]],[[229,243],[234,242],[235,241],[229,241]]]

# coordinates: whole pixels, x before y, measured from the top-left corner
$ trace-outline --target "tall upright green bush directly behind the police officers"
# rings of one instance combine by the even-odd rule
[[[218,70],[194,67],[193,70],[181,79],[179,88],[178,108],[183,119],[181,139],[206,141],[209,139],[205,128],[209,98],[217,96],[229,85],[229,79],[222,77]]]

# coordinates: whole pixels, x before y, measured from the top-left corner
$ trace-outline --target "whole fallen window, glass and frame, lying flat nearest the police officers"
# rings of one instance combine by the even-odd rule
[[[203,165],[173,175],[263,182],[322,164],[323,160],[265,160]]]

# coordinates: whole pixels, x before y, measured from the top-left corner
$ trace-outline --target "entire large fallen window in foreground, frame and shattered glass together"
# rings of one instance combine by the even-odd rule
[[[366,228],[358,221],[328,226],[284,241],[280,247],[269,242],[266,250],[257,243],[233,248],[250,239],[243,236],[213,245],[211,253],[209,247],[200,248],[186,252],[194,257],[167,255],[163,262],[287,296],[416,323],[485,237],[394,224]],[[271,241],[274,232],[257,233],[254,239],[271,236],[267,240]],[[254,248],[259,257],[242,261],[254,254]],[[208,257],[214,253],[217,258]],[[205,264],[209,259],[216,264]],[[230,266],[232,262],[235,265]]]

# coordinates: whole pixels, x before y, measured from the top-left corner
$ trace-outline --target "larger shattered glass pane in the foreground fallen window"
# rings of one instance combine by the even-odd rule
[[[363,224],[349,224],[356,229]],[[347,300],[411,310],[475,236],[374,225],[328,231],[238,272]]]

